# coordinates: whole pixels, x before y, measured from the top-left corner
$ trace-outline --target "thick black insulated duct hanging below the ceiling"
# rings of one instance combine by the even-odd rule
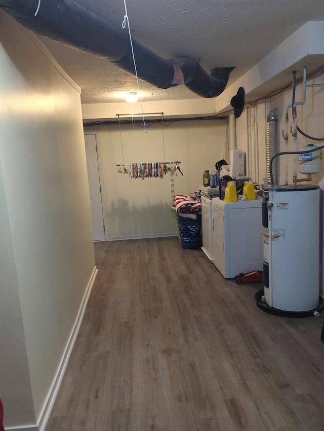
[[[35,33],[107,59],[135,75],[128,31],[74,0],[0,0],[0,7]],[[192,58],[166,60],[135,40],[133,48],[138,77],[158,88],[185,84],[201,97],[216,97],[224,91],[233,69],[214,68],[208,74]]]

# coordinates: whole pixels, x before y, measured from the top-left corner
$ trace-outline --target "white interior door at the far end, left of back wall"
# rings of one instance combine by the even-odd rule
[[[96,135],[85,135],[85,143],[93,240],[105,241]]]

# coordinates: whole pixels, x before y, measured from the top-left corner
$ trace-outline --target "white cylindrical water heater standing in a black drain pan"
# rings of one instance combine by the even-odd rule
[[[316,315],[319,307],[319,187],[263,189],[264,311],[281,316]]]

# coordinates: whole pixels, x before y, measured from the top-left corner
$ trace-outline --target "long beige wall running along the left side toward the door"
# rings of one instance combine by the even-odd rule
[[[18,322],[2,327],[2,350],[17,337],[29,367],[15,374],[14,357],[6,365],[13,379],[0,389],[6,424],[17,426],[42,411],[95,263],[80,95],[3,11],[0,40],[0,160],[12,235],[1,304],[13,304]],[[27,400],[13,392],[17,379]]]

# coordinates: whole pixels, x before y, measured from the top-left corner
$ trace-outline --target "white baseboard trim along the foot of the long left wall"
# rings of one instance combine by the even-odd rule
[[[79,332],[82,320],[83,320],[83,316],[85,314],[86,311],[86,307],[88,304],[88,300],[89,300],[89,296],[91,294],[95,279],[96,279],[96,275],[98,272],[98,268],[95,267],[92,275],[90,277],[86,292],[84,294],[83,300],[81,302],[79,311],[77,313],[76,319],[74,321],[74,325],[72,328],[72,331],[70,333],[68,342],[65,346],[60,364],[58,366],[57,372],[55,374],[52,386],[49,390],[48,396],[46,398],[46,401],[44,403],[43,409],[41,411],[41,414],[38,417],[37,420],[37,424],[36,425],[26,425],[26,426],[17,426],[17,427],[11,427],[11,428],[6,428],[6,431],[45,431],[47,422],[50,418],[50,414],[51,411],[53,409],[60,385],[62,383],[63,380],[63,376],[67,367],[67,364],[69,362],[69,358],[71,356],[72,353],[72,349],[77,337],[77,334]]]

